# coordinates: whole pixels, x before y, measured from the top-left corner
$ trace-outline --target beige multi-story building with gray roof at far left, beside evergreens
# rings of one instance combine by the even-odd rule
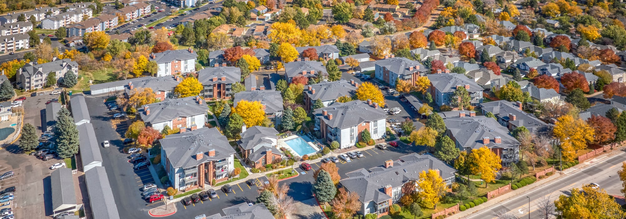
[[[16,86],[26,90],[43,88],[49,73],[54,73],[56,81],[59,81],[68,72],[78,76],[78,63],[76,61],[56,59],[43,64],[26,63],[24,67],[18,69]]]

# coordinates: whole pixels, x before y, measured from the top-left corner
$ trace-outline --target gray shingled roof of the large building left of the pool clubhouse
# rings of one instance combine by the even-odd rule
[[[235,153],[226,136],[223,136],[217,128],[204,127],[168,135],[159,142],[173,167],[190,168],[210,160],[229,158]],[[215,156],[208,156],[209,150],[215,150]],[[203,158],[196,160],[197,153],[204,153]]]

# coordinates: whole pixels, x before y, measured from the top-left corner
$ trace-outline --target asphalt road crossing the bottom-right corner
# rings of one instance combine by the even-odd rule
[[[598,183],[600,188],[607,190],[609,195],[622,195],[622,181],[620,181],[617,171],[621,168],[622,161],[626,160],[626,152],[623,150],[617,155],[605,158],[592,163],[592,165],[567,173],[568,176],[559,180],[539,186],[533,190],[517,195],[511,200],[500,203],[488,210],[466,216],[465,218],[495,218],[496,213],[508,212],[518,218],[528,217],[528,198],[530,197],[530,218],[540,218],[537,212],[538,199],[550,195],[550,200],[558,199],[560,195],[568,195],[572,188],[580,188],[588,183]]]

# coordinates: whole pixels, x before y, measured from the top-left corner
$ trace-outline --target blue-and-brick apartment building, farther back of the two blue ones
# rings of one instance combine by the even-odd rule
[[[374,61],[374,64],[376,64],[374,73],[376,78],[391,86],[396,86],[396,79],[405,80],[415,85],[418,77],[425,76],[428,71],[418,61],[404,57],[394,58],[393,55],[391,58]]]

